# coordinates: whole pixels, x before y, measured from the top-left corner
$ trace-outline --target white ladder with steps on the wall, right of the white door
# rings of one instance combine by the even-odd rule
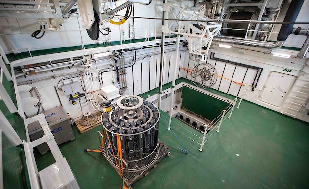
[[[299,111],[306,106],[309,99],[309,74],[305,73],[296,80],[286,104],[283,106],[281,113],[297,117]]]

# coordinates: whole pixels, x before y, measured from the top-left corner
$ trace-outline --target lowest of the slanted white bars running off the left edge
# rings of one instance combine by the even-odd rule
[[[18,136],[18,134],[16,133],[10,122],[5,118],[1,110],[0,110],[0,129],[3,131],[5,136],[14,146],[18,146],[23,143],[21,138]]]

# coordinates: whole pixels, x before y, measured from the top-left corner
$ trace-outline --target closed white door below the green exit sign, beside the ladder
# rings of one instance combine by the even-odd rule
[[[295,76],[271,72],[264,89],[259,96],[263,102],[280,106],[295,81]]]

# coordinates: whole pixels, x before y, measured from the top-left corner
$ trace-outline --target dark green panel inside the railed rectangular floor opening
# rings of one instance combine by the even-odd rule
[[[229,106],[229,103],[205,95],[189,87],[182,87],[182,107],[213,121]]]

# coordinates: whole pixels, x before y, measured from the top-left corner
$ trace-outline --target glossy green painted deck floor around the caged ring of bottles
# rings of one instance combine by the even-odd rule
[[[9,85],[8,88],[11,89]],[[211,92],[233,98],[216,90]],[[17,115],[7,112],[6,115],[21,134],[22,120]],[[214,132],[200,152],[197,142],[202,134],[173,118],[172,128],[189,152],[185,155],[173,132],[167,130],[164,118],[168,120],[166,113],[162,113],[160,119],[159,139],[172,148],[171,156],[165,157],[150,174],[136,182],[133,189],[309,188],[308,123],[244,100],[240,109],[234,110],[232,118],[223,122],[220,132]],[[79,186],[82,189],[122,188],[122,180],[103,155],[83,152],[85,148],[98,148],[97,131],[102,127],[83,134],[75,127],[73,130],[76,139],[62,144],[60,149]],[[6,139],[3,143],[4,188],[26,188],[22,149],[10,146]],[[36,154],[36,159],[40,170],[54,162],[50,153]]]

